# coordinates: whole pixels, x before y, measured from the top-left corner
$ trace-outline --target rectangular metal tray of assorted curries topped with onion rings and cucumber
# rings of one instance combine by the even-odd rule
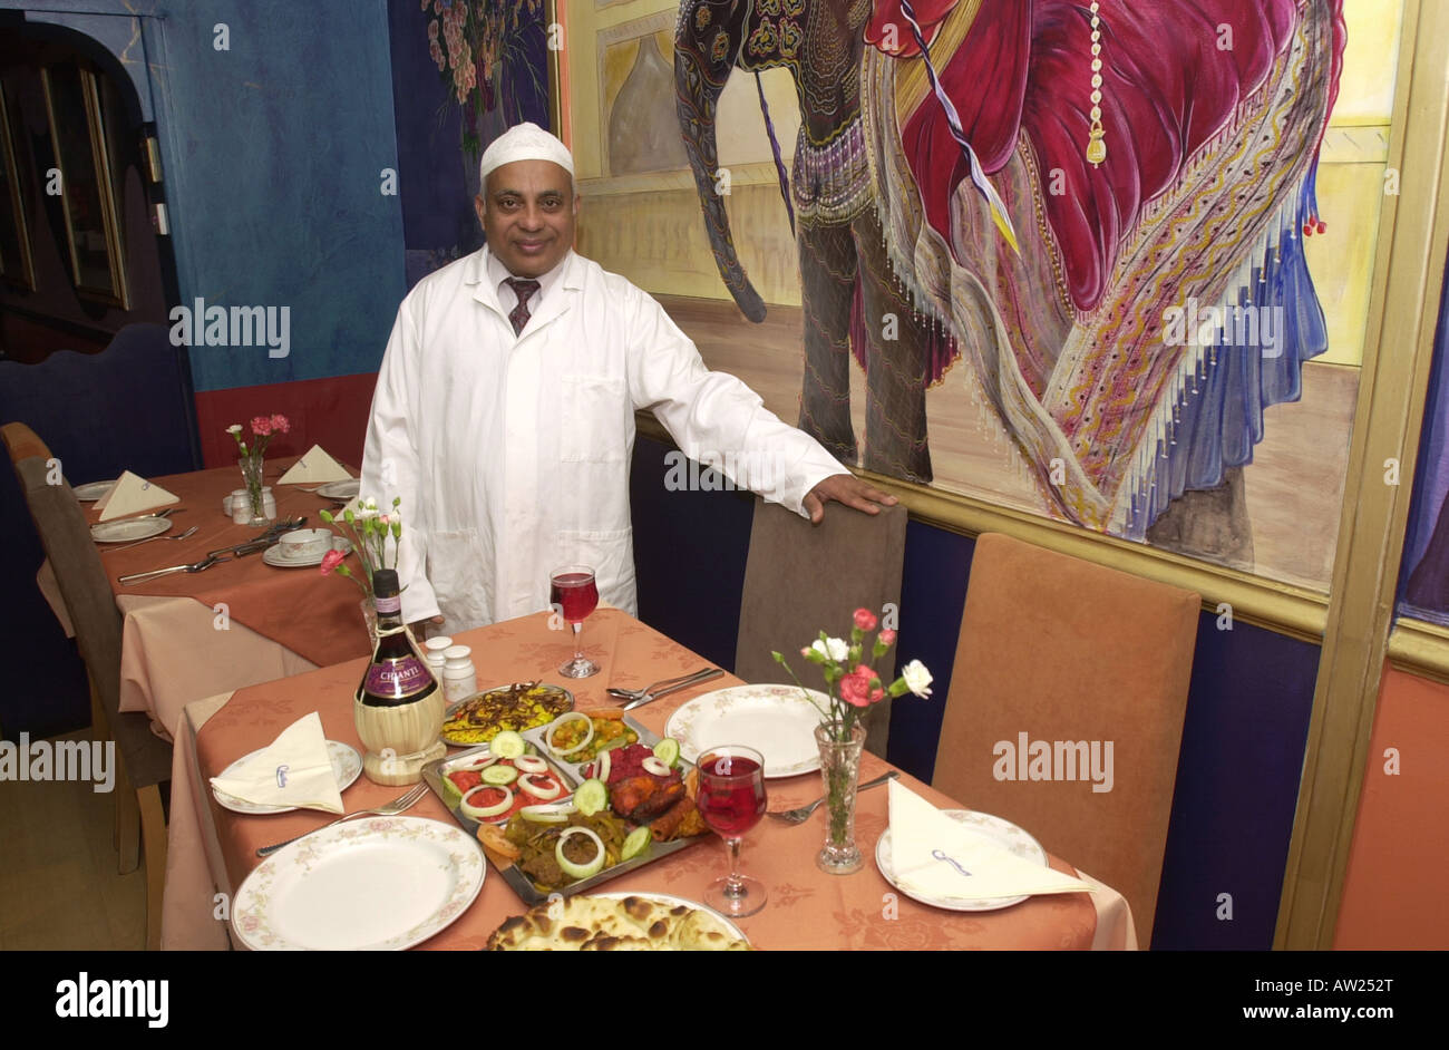
[[[649,752],[656,744],[659,744],[659,736],[649,731],[632,718],[623,720],[627,724],[630,733],[636,734],[638,743],[636,749]],[[668,808],[659,808],[658,812],[651,808],[651,798],[648,792],[642,797],[642,801],[636,799],[636,795],[630,794],[633,788],[635,778],[620,779],[611,785],[611,794],[617,795],[617,799],[611,798],[606,804],[601,812],[588,812],[587,820],[572,812],[574,805],[582,807],[584,795],[578,797],[575,802],[575,792],[580,785],[588,781],[582,775],[581,768],[577,765],[569,765],[554,757],[546,744],[542,743],[543,731],[529,730],[522,734],[520,743],[526,759],[543,760],[551,772],[561,775],[562,781],[567,784],[568,795],[561,797],[559,801],[542,804],[533,808],[536,814],[533,818],[526,818],[514,810],[514,815],[509,818],[509,824],[490,823],[488,818],[478,820],[465,811],[462,805],[462,797],[458,791],[456,784],[449,779],[451,775],[458,770],[477,768],[483,760],[491,756],[491,746],[478,746],[467,752],[451,755],[445,759],[438,759],[435,762],[423,766],[423,781],[429,788],[438,795],[438,798],[448,807],[448,811],[454,818],[462,826],[469,834],[478,837],[483,843],[484,853],[493,862],[494,868],[503,876],[503,881],[513,888],[513,891],[530,905],[542,904],[551,898],[551,895],[558,898],[569,898],[577,894],[587,894],[611,879],[626,875],[638,868],[651,865],[655,860],[661,860],[667,856],[672,856],[682,849],[704,840],[709,837],[704,834],[706,828],[703,820],[698,818],[698,812],[693,808],[693,801],[684,798],[684,784],[693,766],[682,760],[675,760],[674,769],[665,769],[667,776],[652,776],[652,779],[661,785],[656,799],[659,804],[667,804]],[[503,740],[500,739],[501,744]],[[669,744],[664,744],[665,749]],[[500,750],[503,750],[500,747]],[[677,755],[677,747],[674,749]],[[667,752],[665,752],[667,753]],[[619,772],[630,769],[629,759],[625,757],[625,752],[619,750],[620,765]],[[514,759],[516,762],[517,759]],[[587,769],[587,768],[585,768]],[[591,772],[597,772],[591,770]],[[651,778],[638,778],[651,779]],[[593,788],[601,788],[601,785],[594,781]],[[665,789],[668,788],[668,789]],[[587,791],[584,792],[587,794]],[[480,798],[480,795],[483,798]],[[478,792],[471,797],[474,804],[487,802],[483,808],[491,810],[498,801],[496,797],[490,797],[487,792]],[[620,802],[625,808],[614,811],[614,802]],[[478,805],[472,807],[475,811]],[[655,807],[658,808],[658,807]],[[620,815],[629,814],[629,815]],[[681,815],[682,814],[682,815]],[[494,818],[497,820],[497,818]],[[538,820],[539,824],[533,826],[529,820]],[[607,827],[603,827],[607,824]],[[578,830],[584,827],[585,830]],[[480,828],[481,833],[480,833]],[[593,831],[593,834],[587,834]],[[601,860],[606,853],[613,863],[609,863],[598,869],[597,866],[593,872],[582,868],[580,862],[572,862],[574,868],[580,870],[574,875],[568,873],[568,868],[564,868],[568,857],[562,856],[564,849],[561,840],[580,836],[593,839],[598,844],[598,852],[594,854],[597,860]],[[540,843],[545,843],[540,846]],[[542,875],[542,868],[546,865],[546,844],[556,844],[559,850],[558,865],[552,868],[554,875]],[[572,849],[572,847],[569,847]],[[633,852],[636,850],[636,852]],[[587,852],[587,846],[585,846]],[[525,870],[525,866],[529,870]],[[530,875],[530,872],[533,872]],[[587,872],[587,873],[585,873]]]

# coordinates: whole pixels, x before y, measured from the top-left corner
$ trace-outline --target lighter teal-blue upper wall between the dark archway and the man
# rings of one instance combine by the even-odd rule
[[[377,371],[403,297],[401,209],[381,193],[397,169],[385,0],[0,7],[126,42],[113,46],[156,120],[181,301],[290,307],[287,358],[193,348],[199,392]]]

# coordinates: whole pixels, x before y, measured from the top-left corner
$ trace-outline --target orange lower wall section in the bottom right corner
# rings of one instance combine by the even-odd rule
[[[1446,869],[1449,685],[1385,668],[1333,947],[1449,947]]]

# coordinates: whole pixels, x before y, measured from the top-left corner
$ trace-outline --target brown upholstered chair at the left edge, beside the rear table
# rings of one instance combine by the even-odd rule
[[[146,862],[146,946],[161,946],[161,895],[167,873],[167,821],[161,786],[171,779],[171,744],[151,731],[143,714],[120,711],[122,617],[100,552],[70,485],[49,484],[51,453],[23,423],[0,427],[20,491],[55,571],[91,684],[97,739],[116,742],[116,847],[122,873]],[[29,455],[26,455],[29,453]],[[139,831],[138,831],[139,823]]]

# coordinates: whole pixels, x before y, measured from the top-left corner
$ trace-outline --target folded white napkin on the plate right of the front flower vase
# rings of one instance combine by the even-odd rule
[[[1023,894],[1077,894],[1091,885],[1009,853],[958,824],[898,781],[891,792],[891,868],[903,889],[922,896],[980,899]],[[951,860],[933,856],[940,852]],[[956,865],[971,872],[962,875]]]

